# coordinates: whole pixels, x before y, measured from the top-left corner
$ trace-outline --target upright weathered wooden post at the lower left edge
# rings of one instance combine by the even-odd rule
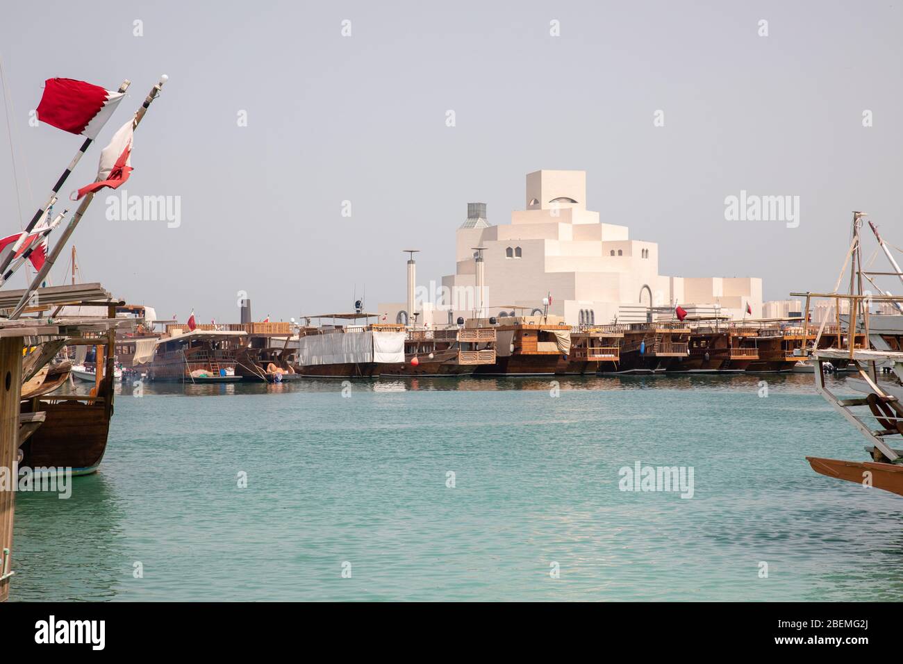
[[[13,552],[14,474],[19,454],[19,397],[22,389],[22,337],[0,338],[0,472],[10,482],[0,487],[0,602],[9,597]]]

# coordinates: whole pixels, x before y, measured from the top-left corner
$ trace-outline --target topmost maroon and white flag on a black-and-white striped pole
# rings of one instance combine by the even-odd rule
[[[98,137],[124,92],[111,92],[75,79],[47,79],[38,104],[38,119],[70,134]]]

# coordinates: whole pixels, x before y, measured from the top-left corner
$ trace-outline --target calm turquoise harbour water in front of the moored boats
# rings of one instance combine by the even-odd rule
[[[129,389],[100,472],[17,496],[11,599],[898,599],[903,499],[809,468],[865,458],[811,376],[559,383]]]

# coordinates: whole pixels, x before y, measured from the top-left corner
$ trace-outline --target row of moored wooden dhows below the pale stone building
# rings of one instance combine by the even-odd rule
[[[554,315],[460,320],[415,327],[373,313],[330,313],[305,323],[171,325],[131,341],[131,370],[150,380],[282,382],[301,377],[536,376],[762,373],[809,370],[815,331],[797,319],[655,321],[571,326]],[[312,319],[330,323],[312,325]],[[264,327],[265,326],[265,327]],[[846,339],[844,333],[839,335]],[[823,333],[831,347],[838,332]],[[855,336],[865,347],[863,334]],[[118,346],[117,346],[118,347]],[[836,369],[844,363],[838,362]]]

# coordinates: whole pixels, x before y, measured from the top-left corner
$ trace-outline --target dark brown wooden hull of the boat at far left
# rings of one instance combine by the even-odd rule
[[[23,402],[23,412],[32,412],[32,403]],[[109,433],[103,404],[42,401],[38,408],[46,414],[44,423],[23,444],[21,465],[71,468],[74,475],[97,471]]]

